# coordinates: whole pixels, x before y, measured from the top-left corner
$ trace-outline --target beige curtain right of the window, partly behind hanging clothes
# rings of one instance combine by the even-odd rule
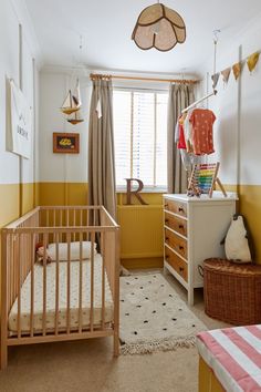
[[[168,97],[168,193],[180,194],[187,190],[187,172],[182,166],[175,143],[175,127],[181,111],[194,102],[194,85],[170,84]]]

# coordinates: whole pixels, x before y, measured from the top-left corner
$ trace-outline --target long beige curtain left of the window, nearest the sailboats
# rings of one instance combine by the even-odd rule
[[[94,80],[88,125],[88,204],[103,205],[115,218],[113,89],[111,80]]]

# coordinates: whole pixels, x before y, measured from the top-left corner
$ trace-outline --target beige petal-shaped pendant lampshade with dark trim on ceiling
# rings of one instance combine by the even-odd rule
[[[132,40],[139,49],[167,52],[186,40],[182,18],[170,8],[156,3],[145,8],[136,22]]]

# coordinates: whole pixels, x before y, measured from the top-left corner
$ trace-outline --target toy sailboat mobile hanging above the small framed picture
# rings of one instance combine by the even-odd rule
[[[67,121],[75,125],[77,123],[82,123],[83,120],[80,117],[80,109],[82,107],[82,101],[81,101],[81,93],[80,93],[80,82],[77,80],[76,87],[74,93],[72,94],[72,91],[69,90],[69,93],[62,104],[61,111],[64,114],[71,115],[73,114],[73,117],[67,118]]]

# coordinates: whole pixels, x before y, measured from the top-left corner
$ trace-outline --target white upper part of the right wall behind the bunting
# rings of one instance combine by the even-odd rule
[[[218,45],[217,72],[261,50],[261,17],[257,17],[240,34]],[[241,53],[241,55],[240,55]],[[212,73],[212,62],[205,72]],[[208,81],[211,85],[210,80]],[[250,74],[244,64],[240,80],[231,72],[228,85],[220,78],[218,94],[209,100],[215,124],[216,155],[220,161],[220,179],[226,184],[261,185],[261,59]]]

